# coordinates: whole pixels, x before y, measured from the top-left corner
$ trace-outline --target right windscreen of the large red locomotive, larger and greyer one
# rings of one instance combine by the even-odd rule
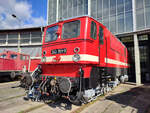
[[[64,23],[62,29],[62,39],[76,38],[80,35],[80,21]]]

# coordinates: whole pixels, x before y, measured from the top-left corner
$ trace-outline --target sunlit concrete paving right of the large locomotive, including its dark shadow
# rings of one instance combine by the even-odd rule
[[[81,113],[150,113],[150,85],[121,84]]]

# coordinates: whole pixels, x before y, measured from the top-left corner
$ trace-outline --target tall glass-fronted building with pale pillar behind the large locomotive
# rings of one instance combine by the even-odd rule
[[[150,0],[48,0],[47,24],[88,15],[127,46],[129,74],[137,84],[150,75]]]

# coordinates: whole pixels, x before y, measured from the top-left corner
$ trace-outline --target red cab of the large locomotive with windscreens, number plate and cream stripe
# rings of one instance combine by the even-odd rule
[[[98,64],[98,40],[96,22],[87,17],[53,24],[45,28],[42,62]]]

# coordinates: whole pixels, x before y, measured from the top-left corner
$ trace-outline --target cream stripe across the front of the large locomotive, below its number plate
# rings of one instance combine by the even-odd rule
[[[94,55],[88,55],[88,54],[79,54],[80,55],[80,61],[91,61],[91,62],[99,62],[99,57]],[[46,57],[46,62],[52,62],[53,59],[56,56],[50,56]],[[73,55],[61,55],[60,61],[73,61],[72,57]]]

